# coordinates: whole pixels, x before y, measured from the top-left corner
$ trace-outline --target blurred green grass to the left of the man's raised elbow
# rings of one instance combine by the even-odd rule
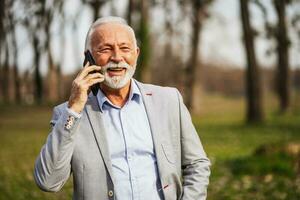
[[[70,184],[55,195],[40,191],[33,165],[49,130],[48,107],[0,107],[0,199],[71,199]]]

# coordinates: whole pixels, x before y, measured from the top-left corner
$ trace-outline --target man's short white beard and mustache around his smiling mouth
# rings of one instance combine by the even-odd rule
[[[109,76],[107,70],[110,68],[126,68],[125,74],[122,76]],[[133,66],[127,64],[126,62],[114,63],[109,62],[101,68],[101,72],[104,75],[104,84],[112,89],[123,88],[133,77],[136,69],[136,64]]]

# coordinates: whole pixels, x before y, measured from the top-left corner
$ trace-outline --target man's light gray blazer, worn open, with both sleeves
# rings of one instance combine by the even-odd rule
[[[210,162],[178,90],[137,85],[149,118],[165,200],[206,199]],[[105,132],[97,98],[89,95],[79,119],[66,106],[54,108],[52,130],[35,162],[37,185],[56,192],[73,174],[73,199],[115,199],[106,142],[109,133]]]

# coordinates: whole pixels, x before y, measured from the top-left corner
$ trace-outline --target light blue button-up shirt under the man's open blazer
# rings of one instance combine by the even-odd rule
[[[128,101],[113,105],[99,90],[118,200],[161,200],[163,194],[148,117],[139,88],[131,80]]]

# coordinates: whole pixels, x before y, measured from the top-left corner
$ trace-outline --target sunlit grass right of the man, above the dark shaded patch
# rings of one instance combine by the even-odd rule
[[[203,111],[194,123],[212,160],[246,156],[265,143],[300,141],[300,96],[291,110],[277,114],[274,97],[265,102],[265,122],[247,125],[243,99],[204,97]]]

